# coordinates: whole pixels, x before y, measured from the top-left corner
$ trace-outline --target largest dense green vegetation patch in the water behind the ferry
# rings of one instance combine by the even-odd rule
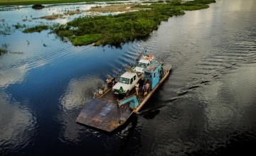
[[[174,1],[168,4],[139,5],[146,10],[122,13],[115,16],[89,16],[76,18],[54,31],[68,37],[73,45],[118,45],[137,38],[146,38],[156,30],[161,21],[180,16],[184,11],[206,9],[215,0]]]

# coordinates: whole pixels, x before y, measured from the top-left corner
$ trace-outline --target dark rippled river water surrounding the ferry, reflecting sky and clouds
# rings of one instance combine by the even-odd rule
[[[0,155],[247,155],[256,147],[256,1],[217,0],[169,18],[147,40],[74,47],[49,30],[12,25],[61,7],[0,11]],[[6,27],[7,26],[7,27]],[[142,48],[173,70],[139,115],[115,133],[75,123],[107,77]]]

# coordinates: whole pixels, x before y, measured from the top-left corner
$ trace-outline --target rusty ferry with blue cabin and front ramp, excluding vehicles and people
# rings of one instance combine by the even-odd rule
[[[136,73],[135,71],[129,72]],[[133,88],[129,91],[129,94],[126,92],[124,98],[120,100],[117,99],[117,96],[114,94],[116,90],[111,88],[101,89],[99,93],[95,94],[94,98],[87,102],[82,108],[76,119],[76,123],[112,132],[119,126],[122,126],[132,113],[139,113],[146,104],[146,101],[148,101],[156,89],[163,84],[170,72],[170,64],[152,60],[146,69],[144,69],[144,74],[139,74],[138,76],[140,84],[143,82],[149,83],[149,89],[146,91],[145,95],[141,94],[142,87],[139,88],[140,94],[138,96]],[[127,74],[126,72],[125,74],[128,75],[129,73]],[[131,79],[130,82],[126,83],[133,85],[132,81]]]

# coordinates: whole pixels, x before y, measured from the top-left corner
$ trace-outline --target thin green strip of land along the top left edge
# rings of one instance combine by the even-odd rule
[[[113,1],[113,0],[0,0],[0,6],[18,6],[31,4],[63,4],[63,3],[79,3],[92,1]]]

